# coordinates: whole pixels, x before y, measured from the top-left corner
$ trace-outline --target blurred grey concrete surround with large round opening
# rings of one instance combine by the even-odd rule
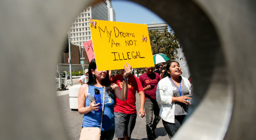
[[[97,1],[0,1],[0,139],[68,139],[56,54],[77,14]],[[134,2],[169,23],[193,75],[193,113],[174,139],[255,140],[256,1]]]

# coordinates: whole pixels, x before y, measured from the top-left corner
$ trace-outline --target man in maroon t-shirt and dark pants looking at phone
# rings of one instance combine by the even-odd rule
[[[156,100],[157,84],[160,81],[160,77],[158,73],[154,72],[154,67],[147,67],[145,69],[146,72],[140,75],[139,79],[145,92],[147,138],[148,140],[153,140],[156,138],[155,128],[157,128],[157,124],[161,119],[159,116],[161,105]],[[155,118],[152,122],[153,112]]]

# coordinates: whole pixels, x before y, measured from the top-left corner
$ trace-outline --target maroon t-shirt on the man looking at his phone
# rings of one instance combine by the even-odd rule
[[[151,75],[147,75],[147,73],[143,73],[139,77],[140,82],[142,84],[142,87],[145,88],[147,85],[155,85],[154,89],[150,89],[147,91],[144,91],[145,93],[145,98],[146,99],[157,99],[156,98],[156,91],[157,91],[157,84],[160,81],[159,74],[156,72],[153,72]]]

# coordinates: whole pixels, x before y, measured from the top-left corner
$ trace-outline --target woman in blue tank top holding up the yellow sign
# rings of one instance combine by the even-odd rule
[[[112,140],[115,133],[114,104],[115,99],[125,101],[128,96],[127,77],[131,72],[131,66],[123,65],[123,89],[120,90],[117,84],[112,84],[109,79],[109,71],[98,71],[95,59],[89,64],[89,81],[80,87],[78,93],[78,112],[84,114],[82,127],[98,127],[101,125],[101,112],[99,107],[103,104],[103,94],[105,89],[104,115],[101,128],[101,140]],[[100,103],[90,102],[88,95],[94,95],[94,89],[98,89],[101,96]]]

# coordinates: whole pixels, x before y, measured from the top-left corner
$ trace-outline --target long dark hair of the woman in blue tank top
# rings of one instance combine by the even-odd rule
[[[93,86],[94,84],[97,83],[95,75],[92,74],[92,70],[95,70],[96,68],[97,68],[96,61],[95,61],[95,59],[92,59],[92,61],[89,64],[89,68],[88,68],[88,75],[89,75],[89,81],[87,82],[88,85]],[[116,96],[114,94],[115,91],[114,91],[114,89],[112,89],[111,82],[109,79],[109,71],[107,71],[106,77],[101,81],[101,84],[103,86],[106,86],[106,92],[116,103]],[[113,93],[113,94],[111,94],[111,93]]]

